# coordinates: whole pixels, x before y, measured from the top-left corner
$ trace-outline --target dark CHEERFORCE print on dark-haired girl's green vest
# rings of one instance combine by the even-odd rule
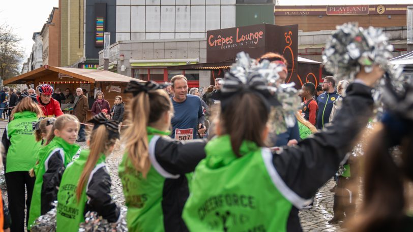
[[[211,196],[202,203],[197,212],[200,220],[204,220],[208,214],[215,215],[208,222],[211,228],[228,231],[231,225],[247,226],[254,223],[251,221],[249,214],[241,213],[242,210],[240,208],[247,209],[248,211],[256,210],[254,196],[236,193]],[[252,228],[246,228],[245,231],[265,231],[265,227],[264,225],[256,225]]]

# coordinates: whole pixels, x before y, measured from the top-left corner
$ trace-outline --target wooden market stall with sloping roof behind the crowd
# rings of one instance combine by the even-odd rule
[[[123,101],[127,106],[132,94],[124,93],[123,91],[130,80],[144,82],[136,78],[104,70],[61,68],[44,65],[31,72],[7,79],[3,84],[26,84],[28,87],[33,84],[33,88],[39,84],[49,84],[53,86],[53,89],[60,88],[63,93],[66,88],[69,88],[74,96],[76,96],[76,88],[80,87],[87,90],[89,108],[91,108],[95,101],[95,92],[98,90],[103,92],[110,106],[113,105],[114,98],[117,95],[123,97]],[[66,107],[62,105],[63,109]]]

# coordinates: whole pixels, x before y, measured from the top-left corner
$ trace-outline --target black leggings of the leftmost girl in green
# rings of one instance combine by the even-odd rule
[[[27,188],[26,200],[26,226],[30,203],[32,202],[33,188],[36,178],[30,177],[28,171],[10,172],[5,174],[7,184],[7,195],[9,198],[9,211],[12,219],[10,230],[13,232],[24,232],[24,186]]]

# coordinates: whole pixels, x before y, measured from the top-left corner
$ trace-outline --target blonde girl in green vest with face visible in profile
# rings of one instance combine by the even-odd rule
[[[46,145],[39,151],[28,229],[40,215],[52,209],[51,203],[57,199],[62,173],[80,148],[75,144],[78,130],[79,121],[73,115],[61,115],[54,121]]]

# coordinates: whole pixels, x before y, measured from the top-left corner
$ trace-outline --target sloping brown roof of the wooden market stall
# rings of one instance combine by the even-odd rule
[[[35,81],[36,78],[42,78],[46,76],[66,74],[71,77],[88,81],[90,83],[95,82],[129,82],[131,80],[141,81],[136,78],[128,77],[125,75],[104,71],[104,70],[90,70],[90,69],[75,69],[75,68],[61,68],[44,65],[41,68],[33,71],[21,74],[16,77],[12,77],[4,81],[4,85],[7,84],[24,84],[26,82]],[[57,77],[57,76],[56,76]],[[141,81],[144,82],[144,81]]]

